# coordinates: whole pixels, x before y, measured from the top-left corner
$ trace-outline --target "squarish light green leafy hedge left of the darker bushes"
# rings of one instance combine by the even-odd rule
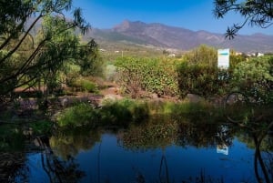
[[[117,80],[132,97],[141,97],[142,91],[176,96],[176,62],[164,58],[119,57],[116,60]]]

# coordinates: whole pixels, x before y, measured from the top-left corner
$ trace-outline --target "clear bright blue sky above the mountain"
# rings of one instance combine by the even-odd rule
[[[243,21],[234,13],[217,19],[212,12],[213,0],[74,0],[73,5],[82,8],[86,21],[96,28],[112,28],[129,20],[224,34],[228,25]],[[266,29],[247,25],[239,32],[254,33],[273,35],[273,25]]]

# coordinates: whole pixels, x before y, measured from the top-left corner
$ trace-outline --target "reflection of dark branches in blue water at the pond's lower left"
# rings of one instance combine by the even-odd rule
[[[78,169],[75,158],[56,156],[48,137],[36,137],[34,143],[43,150],[28,153],[25,166],[16,174],[15,181],[10,182],[78,182],[85,176],[85,172]]]

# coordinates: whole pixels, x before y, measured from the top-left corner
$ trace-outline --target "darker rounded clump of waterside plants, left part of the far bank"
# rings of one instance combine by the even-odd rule
[[[131,122],[140,123],[146,120],[148,115],[145,102],[108,99],[104,101],[101,108],[94,108],[86,103],[67,107],[56,117],[56,122],[59,127],[126,127]]]

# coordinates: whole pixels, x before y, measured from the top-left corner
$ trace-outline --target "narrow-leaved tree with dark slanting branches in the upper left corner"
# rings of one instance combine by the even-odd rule
[[[65,13],[71,12],[74,18],[67,19]],[[72,9],[72,0],[4,0],[0,21],[0,97],[79,56],[79,40],[69,31],[85,34],[90,27],[81,10]],[[39,36],[34,36],[38,25]]]

